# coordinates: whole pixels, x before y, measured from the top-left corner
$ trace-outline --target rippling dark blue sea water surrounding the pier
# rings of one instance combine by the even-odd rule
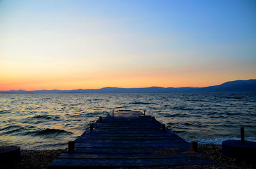
[[[65,148],[112,109],[147,110],[188,142],[256,141],[256,93],[0,94],[0,146]]]

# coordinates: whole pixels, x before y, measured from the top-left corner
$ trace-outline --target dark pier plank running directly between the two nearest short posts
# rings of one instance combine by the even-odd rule
[[[161,148],[161,147],[189,147],[190,144],[186,142],[178,143],[75,143],[75,147],[100,147],[100,148]]]

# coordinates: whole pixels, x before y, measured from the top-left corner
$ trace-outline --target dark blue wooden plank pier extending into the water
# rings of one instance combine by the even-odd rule
[[[154,117],[119,110],[99,117],[49,168],[204,165],[213,163],[187,154],[190,143]]]

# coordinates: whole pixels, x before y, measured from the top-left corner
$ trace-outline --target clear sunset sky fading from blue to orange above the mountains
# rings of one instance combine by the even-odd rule
[[[0,0],[0,90],[256,78],[256,1]]]

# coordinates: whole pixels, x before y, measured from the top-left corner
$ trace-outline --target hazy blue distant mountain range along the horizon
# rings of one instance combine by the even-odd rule
[[[38,91],[0,91],[0,93],[134,93],[134,92],[256,92],[256,79],[235,80],[209,87],[143,87],[119,88],[104,87],[101,89],[76,90],[38,90]]]

